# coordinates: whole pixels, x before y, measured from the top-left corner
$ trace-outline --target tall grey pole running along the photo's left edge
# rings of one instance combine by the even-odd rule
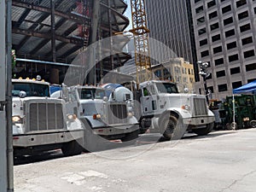
[[[0,186],[14,191],[11,101],[11,0],[0,0]]]

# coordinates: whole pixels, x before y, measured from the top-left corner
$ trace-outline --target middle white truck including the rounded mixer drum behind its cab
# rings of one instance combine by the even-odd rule
[[[138,137],[139,124],[131,107],[132,93],[125,87],[107,89],[62,85],[62,90],[56,91],[52,97],[66,99],[70,108],[77,110],[85,127],[84,148],[87,151],[102,149],[100,143],[108,143],[108,140],[131,143]],[[79,102],[79,108],[76,104],[73,106],[75,102]]]

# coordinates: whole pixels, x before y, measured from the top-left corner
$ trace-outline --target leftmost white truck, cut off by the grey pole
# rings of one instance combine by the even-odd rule
[[[49,83],[13,79],[13,146],[15,156],[61,148],[65,155],[80,154],[84,125],[66,102],[50,98]]]

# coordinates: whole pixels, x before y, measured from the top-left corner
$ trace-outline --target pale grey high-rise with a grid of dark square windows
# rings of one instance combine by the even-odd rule
[[[212,97],[256,79],[256,1],[191,0],[198,61],[208,62]],[[204,94],[203,82],[196,90]]]

